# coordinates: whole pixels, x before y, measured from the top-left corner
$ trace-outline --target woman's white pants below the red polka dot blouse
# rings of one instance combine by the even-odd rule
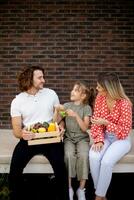
[[[105,197],[112,178],[113,166],[131,148],[130,138],[118,140],[114,134],[107,133],[104,146],[100,152],[95,152],[92,147],[89,151],[91,176],[94,182],[95,194]]]

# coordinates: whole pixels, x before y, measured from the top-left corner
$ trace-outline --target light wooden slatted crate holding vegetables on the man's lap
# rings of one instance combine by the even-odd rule
[[[56,131],[53,132],[33,133],[33,134],[35,135],[35,137],[34,139],[28,141],[28,145],[49,144],[61,141],[61,136],[58,126],[56,126]]]

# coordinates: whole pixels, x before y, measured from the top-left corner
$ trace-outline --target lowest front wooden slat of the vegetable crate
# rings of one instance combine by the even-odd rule
[[[28,145],[37,145],[37,144],[50,144],[50,143],[57,143],[61,141],[61,137],[53,137],[53,138],[41,138],[41,139],[34,139],[29,140]]]

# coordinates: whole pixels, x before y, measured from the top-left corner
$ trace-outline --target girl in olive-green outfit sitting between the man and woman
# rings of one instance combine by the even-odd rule
[[[65,111],[65,163],[69,174],[69,197],[73,200],[72,178],[77,176],[80,182],[76,192],[78,200],[85,200],[85,184],[89,173],[89,128],[92,114],[94,90],[85,83],[76,82],[71,91],[71,102],[56,106],[55,120],[59,111]],[[90,102],[90,105],[89,105]]]

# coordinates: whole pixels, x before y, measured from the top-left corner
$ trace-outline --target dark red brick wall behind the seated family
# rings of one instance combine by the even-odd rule
[[[0,128],[11,127],[16,75],[32,64],[62,103],[73,80],[95,85],[100,71],[117,72],[134,102],[134,1],[1,0]]]

